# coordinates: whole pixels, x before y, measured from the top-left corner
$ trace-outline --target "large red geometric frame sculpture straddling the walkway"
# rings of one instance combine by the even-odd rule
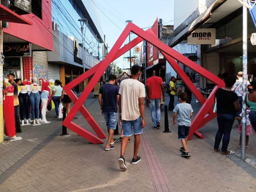
[[[126,44],[125,46],[123,46],[122,48],[120,48],[123,42],[125,41],[125,39],[127,38],[127,36],[129,36],[130,32],[133,32],[138,37],[135,38],[133,41],[129,42],[128,44]],[[127,24],[126,28],[124,29],[122,34],[119,36],[117,42],[114,44],[109,54],[106,56],[106,58],[102,62],[98,63],[96,66],[86,71],[84,74],[82,74],[81,76],[79,76],[78,78],[76,78],[75,80],[73,80],[72,82],[70,82],[69,84],[63,87],[65,92],[68,94],[68,96],[70,96],[72,102],[74,103],[74,106],[70,110],[70,113],[62,123],[64,126],[66,126],[70,130],[76,132],[77,134],[79,134],[80,136],[82,136],[83,138],[85,138],[86,140],[94,144],[103,143],[103,140],[101,140],[100,138],[106,138],[106,136],[104,132],[102,132],[98,124],[95,122],[95,120],[92,118],[92,116],[89,114],[89,112],[86,110],[86,108],[83,106],[83,103],[88,97],[88,95],[90,94],[90,92],[92,91],[92,89],[94,88],[96,82],[98,82],[98,80],[100,79],[100,77],[102,76],[106,68],[109,66],[109,64],[113,60],[117,59],[119,56],[121,56],[122,54],[124,54],[125,52],[127,52],[128,50],[130,50],[131,48],[133,48],[143,40],[146,40],[147,42],[149,42],[150,44],[158,48],[160,52],[162,52],[163,56],[170,63],[172,68],[176,70],[177,74],[179,74],[183,82],[188,86],[191,92],[196,96],[197,100],[199,100],[199,102],[203,105],[191,124],[188,137],[191,138],[191,136],[194,133],[199,134],[197,130],[199,130],[207,122],[215,118],[216,114],[213,113],[213,109],[212,109],[212,105],[214,103],[213,98],[217,88],[225,86],[223,80],[221,80],[220,78],[218,78],[217,76],[215,76],[214,74],[206,70],[205,68],[199,66],[195,62],[191,61],[190,59],[186,58],[182,54],[176,52],[175,50],[173,50],[172,48],[170,48],[169,46],[161,42],[151,29],[144,31],[138,26],[136,26],[135,24],[129,22],[129,24]],[[182,68],[180,68],[180,66],[174,59],[178,60],[188,68],[194,70],[201,76],[208,78],[209,80],[211,80],[211,82],[217,85],[215,86],[215,88],[213,89],[212,93],[210,94],[207,100],[203,98],[202,94],[199,92],[199,90],[197,90],[195,85],[190,81],[190,79],[186,76]],[[80,95],[78,99],[74,94],[74,92],[72,91],[72,88],[90,76],[92,76],[90,82],[88,83],[84,92]],[[72,122],[74,116],[79,110],[84,116],[84,118],[86,119],[86,121],[94,129],[98,137],[88,132],[87,130],[84,130],[74,122]],[[201,135],[201,138],[203,138],[202,135]]]

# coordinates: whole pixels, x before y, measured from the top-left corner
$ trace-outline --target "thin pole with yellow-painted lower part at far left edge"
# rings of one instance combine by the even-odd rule
[[[1,0],[0,0],[1,4]],[[4,114],[3,114],[3,28],[0,20],[0,143],[4,141]]]

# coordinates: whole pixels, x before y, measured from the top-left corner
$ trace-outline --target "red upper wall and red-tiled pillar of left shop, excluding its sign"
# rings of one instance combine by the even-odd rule
[[[13,55],[6,57],[4,60],[4,76],[8,72],[16,72],[16,69],[18,69],[20,72],[16,73],[17,78],[23,76],[23,78],[29,80],[33,74],[32,52],[53,50],[51,0],[41,0],[41,3],[32,1],[32,12],[20,17],[30,21],[32,25],[9,23],[8,28],[4,28],[4,46],[10,42],[17,44],[30,43],[31,56]]]

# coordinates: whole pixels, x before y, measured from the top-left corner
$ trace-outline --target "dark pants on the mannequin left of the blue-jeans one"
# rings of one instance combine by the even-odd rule
[[[29,104],[29,94],[20,93],[18,94],[18,101],[20,103],[20,119],[29,119],[30,114],[30,104]]]

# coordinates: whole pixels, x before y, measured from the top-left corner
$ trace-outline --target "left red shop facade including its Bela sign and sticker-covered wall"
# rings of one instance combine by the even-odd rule
[[[5,6],[10,5],[5,4]],[[4,78],[9,73],[14,73],[16,78],[22,80],[25,78],[31,80],[33,74],[40,78],[47,78],[46,51],[53,50],[51,1],[41,0],[41,3],[31,1],[30,6],[31,13],[20,17],[31,24],[4,23]],[[35,66],[40,68],[35,70]],[[42,70],[41,66],[43,66]],[[41,73],[41,71],[44,72]]]

